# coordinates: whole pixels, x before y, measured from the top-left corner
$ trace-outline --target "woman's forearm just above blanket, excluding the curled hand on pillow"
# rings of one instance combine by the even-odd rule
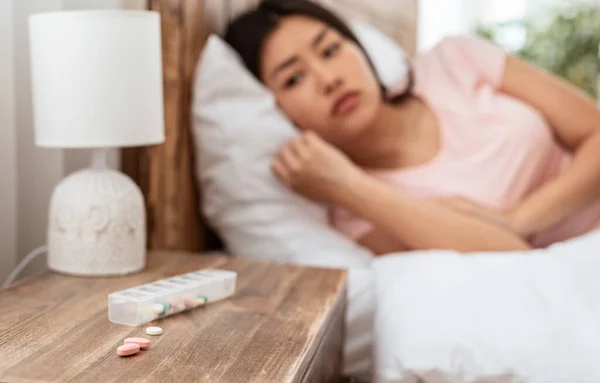
[[[407,249],[473,252],[530,248],[518,235],[498,225],[461,214],[433,199],[412,197],[366,174],[357,176],[351,187],[339,193],[338,203],[380,228],[361,239],[361,244],[377,254]]]

